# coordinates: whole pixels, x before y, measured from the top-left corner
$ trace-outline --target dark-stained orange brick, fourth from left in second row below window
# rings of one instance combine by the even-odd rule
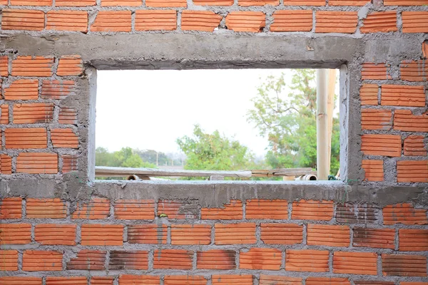
[[[166,244],[166,237],[165,224],[131,224],[128,226],[130,244]]]

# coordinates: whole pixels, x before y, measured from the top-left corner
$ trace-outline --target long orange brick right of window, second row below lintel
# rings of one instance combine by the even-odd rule
[[[381,105],[424,107],[424,86],[382,85]]]

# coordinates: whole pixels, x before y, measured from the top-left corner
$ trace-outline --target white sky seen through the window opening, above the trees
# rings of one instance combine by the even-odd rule
[[[247,123],[250,99],[280,69],[98,71],[96,147],[179,152],[175,140],[199,123],[264,155],[267,139]]]

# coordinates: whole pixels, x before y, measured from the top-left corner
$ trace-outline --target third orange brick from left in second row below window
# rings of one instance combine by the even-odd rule
[[[82,224],[81,245],[122,245],[122,224]]]

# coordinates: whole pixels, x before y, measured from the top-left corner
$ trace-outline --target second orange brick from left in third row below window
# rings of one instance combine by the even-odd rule
[[[22,257],[23,271],[61,271],[61,252],[26,250]]]

